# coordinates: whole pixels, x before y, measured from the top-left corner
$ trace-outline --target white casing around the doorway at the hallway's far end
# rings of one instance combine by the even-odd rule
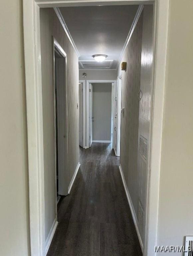
[[[115,83],[116,80],[87,80],[87,126],[86,126],[86,136],[87,136],[87,148],[89,148],[89,134],[90,134],[90,124],[89,124],[89,113],[90,113],[90,83]],[[111,109],[112,111],[112,109]]]

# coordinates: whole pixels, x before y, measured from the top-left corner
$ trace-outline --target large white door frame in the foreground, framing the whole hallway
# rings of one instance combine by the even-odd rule
[[[144,256],[155,255],[157,242],[159,176],[166,72],[169,0],[23,0],[24,57],[28,131],[29,211],[31,256],[45,256],[44,150],[40,8],[117,4],[153,4],[153,94],[148,159],[146,234]]]

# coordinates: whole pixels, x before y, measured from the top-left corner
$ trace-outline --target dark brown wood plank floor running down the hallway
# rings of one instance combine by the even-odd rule
[[[142,255],[111,144],[81,148],[80,163],[47,256]]]

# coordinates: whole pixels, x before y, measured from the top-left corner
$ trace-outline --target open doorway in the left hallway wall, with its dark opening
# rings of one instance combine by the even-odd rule
[[[68,194],[67,179],[67,91],[66,54],[54,39],[54,117],[55,117],[55,167],[56,196]]]

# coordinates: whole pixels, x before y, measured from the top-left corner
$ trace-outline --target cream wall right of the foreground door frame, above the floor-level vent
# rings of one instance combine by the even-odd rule
[[[170,0],[157,245],[193,235],[192,11],[192,0]]]

